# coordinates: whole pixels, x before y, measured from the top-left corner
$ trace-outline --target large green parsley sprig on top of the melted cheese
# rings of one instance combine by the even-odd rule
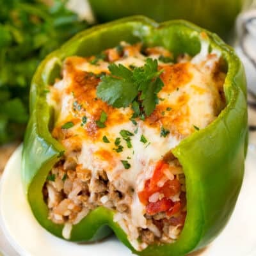
[[[133,70],[122,64],[112,63],[108,67],[111,74],[102,76],[97,86],[97,97],[115,108],[125,108],[132,104],[137,116],[141,111],[148,116],[156,108],[157,93],[163,87],[163,82],[159,78],[162,71],[158,71],[157,67],[157,60],[150,58],[143,67],[135,67]],[[141,115],[142,120],[145,119],[145,115]]]

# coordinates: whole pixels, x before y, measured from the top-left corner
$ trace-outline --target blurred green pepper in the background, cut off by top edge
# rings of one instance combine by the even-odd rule
[[[186,19],[224,38],[234,25],[244,0],[89,0],[99,22],[145,15],[157,22]]]

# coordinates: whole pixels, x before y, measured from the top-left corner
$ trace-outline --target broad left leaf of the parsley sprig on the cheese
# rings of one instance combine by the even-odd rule
[[[115,108],[125,108],[138,94],[138,88],[132,81],[132,71],[115,63],[108,68],[111,75],[101,77],[97,86],[97,97]]]

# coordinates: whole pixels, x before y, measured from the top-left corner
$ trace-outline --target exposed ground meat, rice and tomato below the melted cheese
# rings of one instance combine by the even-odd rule
[[[184,226],[185,177],[177,159],[172,160],[171,165],[177,167],[175,172],[169,173],[168,176],[171,179],[159,177],[160,179],[156,180],[158,186],[153,188],[151,195],[146,186],[147,191],[140,192],[140,200],[145,203],[147,209],[145,218],[148,227],[137,230],[138,240],[141,243],[170,243],[177,239]],[[157,174],[159,176],[159,173]],[[174,189],[178,190],[175,190],[174,195],[169,195],[172,199],[166,199],[164,190],[168,188],[164,187],[164,184],[168,184],[170,180],[175,180],[178,188]],[[90,170],[81,168],[81,164],[76,164],[74,159],[61,159],[52,168],[43,189],[45,203],[49,207],[49,219],[57,224],[76,225],[88,212],[102,205],[117,211],[118,214],[125,214],[128,219],[131,214],[129,205],[132,203],[134,189],[127,188],[122,180],[115,183],[116,186],[109,182],[108,175],[104,171],[92,175]],[[168,190],[170,191],[170,188]],[[147,196],[149,196],[146,199],[148,202],[145,202]],[[174,209],[175,212],[168,212],[168,209],[172,211]]]

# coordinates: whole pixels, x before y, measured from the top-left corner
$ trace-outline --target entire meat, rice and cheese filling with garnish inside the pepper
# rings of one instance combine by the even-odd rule
[[[63,237],[104,206],[136,250],[177,240],[186,177],[172,148],[225,107],[223,60],[208,49],[203,40],[195,57],[174,61],[163,47],[121,42],[63,62],[47,101],[55,111],[52,136],[65,152],[43,189]]]

